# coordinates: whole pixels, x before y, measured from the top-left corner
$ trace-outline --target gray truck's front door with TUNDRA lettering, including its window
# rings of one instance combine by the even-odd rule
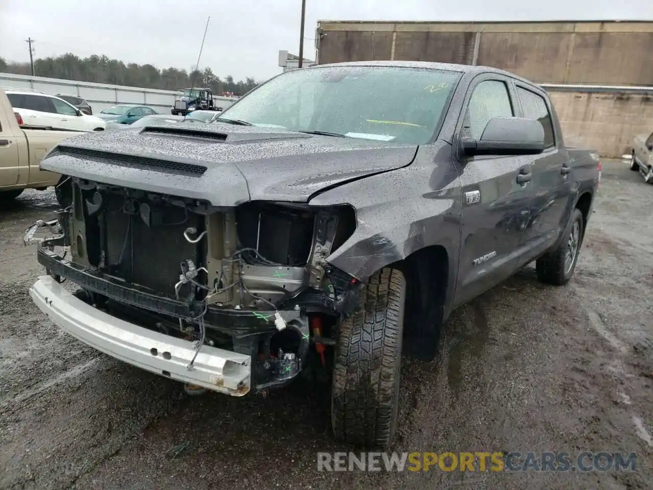
[[[496,117],[517,116],[514,86],[498,74],[475,78],[465,114],[454,137],[480,139]],[[462,235],[454,303],[460,304],[508,278],[517,266],[518,247],[528,223],[532,186],[529,157],[458,154],[462,184]]]

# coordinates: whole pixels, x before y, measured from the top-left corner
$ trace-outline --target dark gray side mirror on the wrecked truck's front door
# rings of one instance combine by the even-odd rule
[[[481,139],[462,139],[466,155],[535,155],[544,150],[544,127],[533,119],[492,118]]]

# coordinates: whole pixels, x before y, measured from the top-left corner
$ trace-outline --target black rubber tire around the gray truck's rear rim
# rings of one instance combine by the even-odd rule
[[[569,237],[571,235],[574,223],[579,223],[580,236],[578,238],[577,250],[573,257],[571,269],[565,270],[565,257],[567,256],[567,246],[569,244]],[[535,261],[535,270],[537,272],[537,279],[545,284],[554,284],[556,286],[563,286],[567,284],[573,276],[578,257],[581,254],[582,239],[584,238],[584,220],[582,218],[581,210],[575,208],[571,213],[571,218],[562,238],[560,244],[554,249],[547,252],[545,255]]]

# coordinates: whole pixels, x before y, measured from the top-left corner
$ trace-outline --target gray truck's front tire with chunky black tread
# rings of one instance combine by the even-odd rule
[[[338,330],[331,393],[334,436],[366,448],[387,447],[396,430],[406,278],[386,267],[358,297]]]

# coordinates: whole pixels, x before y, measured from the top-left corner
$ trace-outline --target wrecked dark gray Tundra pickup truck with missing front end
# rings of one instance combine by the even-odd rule
[[[47,271],[30,293],[82,342],[193,387],[331,380],[336,438],[387,446],[402,353],[432,358],[456,306],[532,261],[571,278],[599,166],[510,73],[283,73],[212,124],[58,144],[41,168],[73,199],[27,233]]]

